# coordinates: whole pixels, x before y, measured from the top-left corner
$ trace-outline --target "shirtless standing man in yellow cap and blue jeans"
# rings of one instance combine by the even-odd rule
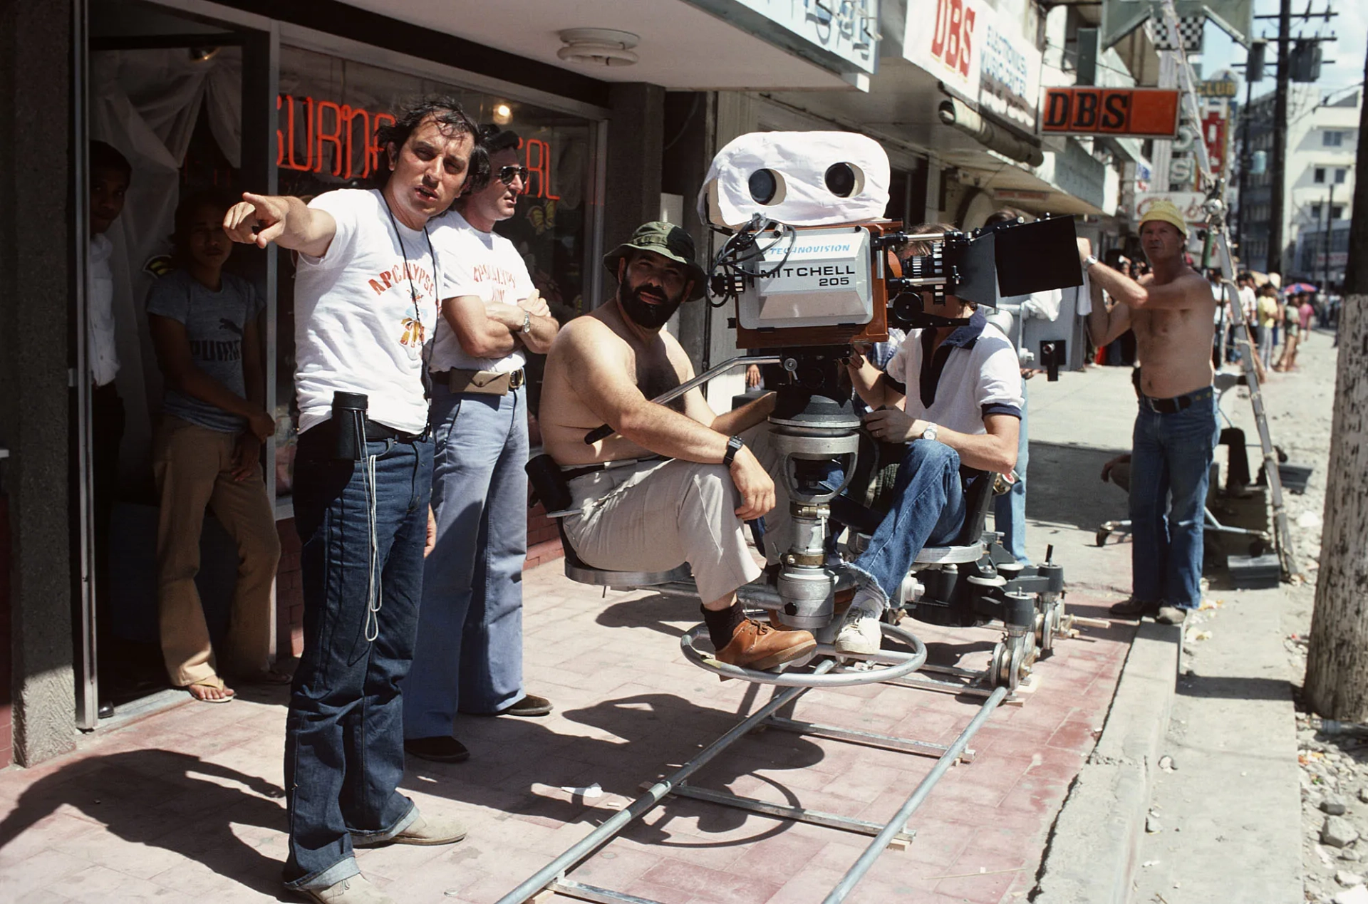
[[[1141,362],[1131,440],[1131,598],[1111,611],[1155,614],[1172,625],[1201,604],[1202,518],[1216,444],[1216,302],[1201,274],[1183,263],[1187,226],[1176,207],[1152,205],[1140,222],[1140,239],[1152,272],[1138,282],[1097,263],[1088,239],[1078,249],[1092,282],[1093,342],[1103,347],[1131,328]],[[1103,290],[1116,300],[1111,309]]]

